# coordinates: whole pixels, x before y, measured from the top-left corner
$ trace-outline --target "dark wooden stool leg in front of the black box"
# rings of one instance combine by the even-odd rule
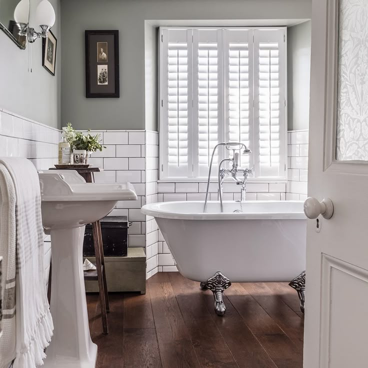
[[[102,328],[103,333],[108,333],[107,311],[109,310],[109,304],[108,304],[108,292],[107,292],[106,275],[103,258],[101,226],[99,221],[92,223],[92,234],[93,234],[94,253],[96,257],[99,300],[101,303]]]

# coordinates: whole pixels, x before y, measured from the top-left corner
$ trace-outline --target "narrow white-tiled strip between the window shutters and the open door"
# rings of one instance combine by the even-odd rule
[[[304,200],[308,180],[308,130],[287,132],[286,200]]]

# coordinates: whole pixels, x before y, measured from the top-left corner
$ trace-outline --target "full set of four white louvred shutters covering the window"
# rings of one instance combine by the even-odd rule
[[[286,178],[285,51],[284,27],[160,28],[160,179],[206,177],[224,141],[254,179]]]

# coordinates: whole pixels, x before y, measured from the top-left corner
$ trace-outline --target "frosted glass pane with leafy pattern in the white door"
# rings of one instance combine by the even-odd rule
[[[340,0],[337,160],[368,160],[368,1]]]

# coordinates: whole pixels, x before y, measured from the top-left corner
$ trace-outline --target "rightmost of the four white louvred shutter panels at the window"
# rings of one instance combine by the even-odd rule
[[[284,33],[254,31],[255,174],[285,175]]]

